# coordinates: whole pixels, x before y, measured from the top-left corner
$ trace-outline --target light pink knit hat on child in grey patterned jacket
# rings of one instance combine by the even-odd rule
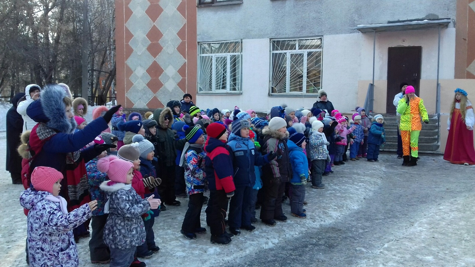
[[[114,182],[125,183],[127,180],[127,172],[133,167],[132,162],[127,162],[117,158],[116,156],[108,156],[97,161],[97,170],[106,172],[109,180]]]

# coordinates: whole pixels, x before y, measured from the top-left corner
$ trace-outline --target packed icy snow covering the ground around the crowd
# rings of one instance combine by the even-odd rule
[[[5,133],[0,164],[5,165]],[[307,219],[289,219],[254,232],[242,231],[228,246],[212,245],[209,232],[195,240],[180,234],[187,199],[156,219],[160,252],[144,261],[158,266],[474,266],[474,168],[441,157],[423,157],[403,168],[394,156],[379,163],[348,162],[323,178],[326,189],[307,183]],[[3,168],[2,168],[3,169]],[[0,258],[3,266],[24,267],[26,217],[19,205],[21,185],[0,172]],[[202,212],[202,225],[204,220]],[[259,210],[257,210],[259,212]],[[209,228],[208,228],[209,231]],[[78,244],[79,266],[89,261],[88,239]]]

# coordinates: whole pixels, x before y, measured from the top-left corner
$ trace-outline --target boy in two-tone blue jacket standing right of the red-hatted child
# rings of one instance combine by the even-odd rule
[[[249,138],[250,124],[247,119],[237,119],[231,124],[228,145],[233,152],[234,184],[236,191],[229,202],[228,224],[233,235],[240,235],[239,228],[253,231],[251,225],[251,191],[256,182],[254,166],[262,166],[274,159],[275,153],[260,156]]]

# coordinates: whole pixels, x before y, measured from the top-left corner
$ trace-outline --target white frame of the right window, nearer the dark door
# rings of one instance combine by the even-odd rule
[[[309,39],[320,39],[322,43],[322,48],[315,48],[315,49],[299,49],[299,40],[309,40]],[[273,41],[289,41],[289,40],[295,40],[296,42],[296,49],[291,49],[291,50],[273,50]],[[321,58],[321,67],[320,67],[320,89],[322,88],[322,74],[323,74],[323,36],[315,36],[315,37],[305,37],[305,38],[278,38],[278,39],[270,39],[270,51],[271,51],[271,57],[270,57],[270,80],[269,80],[269,95],[318,95],[318,93],[307,93],[307,53],[308,52],[321,52],[322,53],[322,58]],[[272,78],[273,78],[273,72],[274,72],[274,64],[273,64],[273,55],[277,53],[285,53],[286,55],[286,77],[285,77],[285,92],[282,93],[273,93],[272,92]],[[303,66],[303,78],[302,80],[302,92],[290,92],[290,55],[291,54],[303,54],[304,55],[304,66]]]

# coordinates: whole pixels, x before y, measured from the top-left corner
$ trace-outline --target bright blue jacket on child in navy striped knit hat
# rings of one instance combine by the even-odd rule
[[[288,140],[290,163],[292,164],[292,178],[290,183],[295,185],[303,184],[308,177],[308,160],[304,150],[298,147],[294,142]]]

